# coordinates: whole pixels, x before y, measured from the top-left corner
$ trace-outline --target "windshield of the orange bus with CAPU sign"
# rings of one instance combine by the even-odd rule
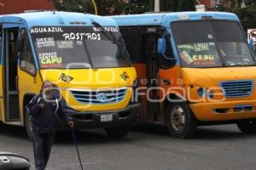
[[[236,21],[205,20],[172,23],[183,67],[255,65]]]

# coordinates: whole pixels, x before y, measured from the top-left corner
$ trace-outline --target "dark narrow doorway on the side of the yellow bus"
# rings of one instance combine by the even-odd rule
[[[3,51],[3,98],[5,108],[5,122],[20,122],[19,91],[16,53],[19,27],[4,28]]]

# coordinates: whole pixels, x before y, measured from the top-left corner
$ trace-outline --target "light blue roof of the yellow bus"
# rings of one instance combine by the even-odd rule
[[[110,18],[73,12],[46,11],[0,15],[0,24],[22,24],[28,29],[33,26],[92,26],[92,21],[102,26],[117,26]]]

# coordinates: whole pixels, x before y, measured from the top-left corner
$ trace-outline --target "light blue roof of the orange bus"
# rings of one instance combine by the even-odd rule
[[[223,12],[174,12],[161,14],[131,14],[111,16],[119,26],[165,26],[178,20],[201,20],[212,17],[216,20],[239,20],[236,14]]]

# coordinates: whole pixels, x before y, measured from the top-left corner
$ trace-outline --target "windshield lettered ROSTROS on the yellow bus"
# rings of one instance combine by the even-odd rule
[[[117,27],[32,27],[32,42],[43,69],[111,68],[130,66]]]

